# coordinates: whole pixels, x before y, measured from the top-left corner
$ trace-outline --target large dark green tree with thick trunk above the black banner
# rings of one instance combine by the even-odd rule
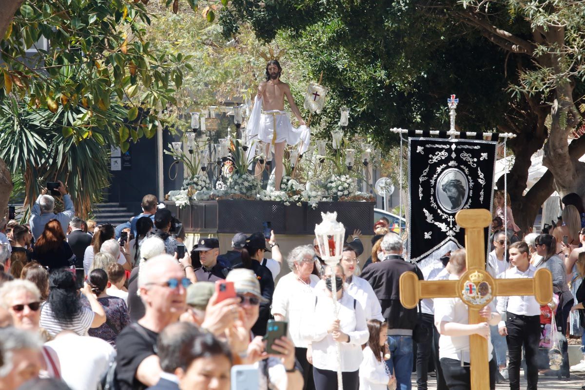
[[[584,11],[564,0],[234,0],[220,20],[226,35],[247,23],[265,42],[292,40],[289,55],[324,71],[335,91],[321,119],[333,124],[336,109],[351,106],[353,130],[380,143],[396,139],[388,127],[446,129],[452,93],[460,129],[517,134],[508,191],[527,227],[553,189],[585,194],[576,180],[585,141],[567,142],[582,119]],[[530,157],[543,146],[549,173],[525,194]]]

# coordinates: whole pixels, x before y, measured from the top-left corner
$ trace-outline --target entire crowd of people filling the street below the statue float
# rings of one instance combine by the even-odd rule
[[[430,370],[438,390],[463,390],[472,334],[490,341],[491,388],[509,380],[519,390],[524,350],[528,389],[536,389],[550,334],[583,336],[585,210],[573,195],[558,226],[524,237],[503,192],[494,196],[487,271],[526,278],[546,268],[555,295],[542,307],[533,296],[497,298],[481,309],[484,322],[469,324],[459,298],[404,308],[398,282],[408,271],[459,279],[465,250],[420,269],[386,219],[374,225],[367,261],[356,230],[329,267],[316,240],[283,256],[274,232],[237,233],[225,252],[202,237],[183,254],[184,237],[156,196],[144,196],[143,213],[128,223],[94,226],[75,216],[63,183],[58,191],[63,212],[42,194],[29,225],[9,221],[0,233],[2,390],[226,390],[239,382],[334,390],[339,378],[344,389],[409,390],[414,371],[426,389]],[[585,370],[583,344],[574,370]],[[561,350],[568,376],[566,341]]]

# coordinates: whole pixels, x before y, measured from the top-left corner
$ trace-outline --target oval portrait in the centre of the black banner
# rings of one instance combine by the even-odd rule
[[[449,168],[439,176],[435,195],[439,206],[446,212],[454,213],[462,209],[468,194],[469,184],[462,171]]]

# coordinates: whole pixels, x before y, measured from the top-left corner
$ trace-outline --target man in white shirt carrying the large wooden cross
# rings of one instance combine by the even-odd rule
[[[450,280],[457,280],[466,271],[465,250],[458,249],[451,254],[448,264]],[[471,387],[469,336],[479,334],[487,342],[487,360],[490,361],[490,388],[495,387],[495,362],[492,358],[490,343],[490,325],[500,321],[500,314],[495,312],[493,302],[480,310],[480,315],[487,321],[469,324],[468,306],[457,298],[436,298],[435,326],[441,333],[439,338],[439,358],[445,375],[445,382],[450,389],[469,389]],[[492,311],[494,309],[494,311]]]

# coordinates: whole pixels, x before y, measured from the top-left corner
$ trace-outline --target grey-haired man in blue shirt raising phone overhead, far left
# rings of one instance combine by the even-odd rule
[[[75,207],[73,206],[73,201],[71,201],[71,196],[67,194],[67,189],[63,182],[59,181],[59,184],[57,191],[63,196],[65,210],[60,213],[55,213],[55,198],[46,194],[46,188],[43,189],[42,195],[39,195],[39,198],[37,198],[35,205],[33,205],[33,209],[31,210],[30,230],[35,237],[35,240],[40,237],[43,233],[44,225],[46,225],[51,219],[58,220],[59,223],[61,223],[63,233],[67,233],[67,225],[69,225],[69,221],[75,215]]]

